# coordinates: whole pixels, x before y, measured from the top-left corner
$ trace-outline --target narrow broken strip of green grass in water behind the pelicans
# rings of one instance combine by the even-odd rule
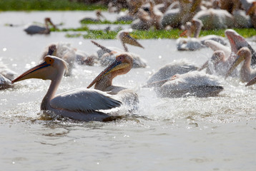
[[[86,33],[67,33],[67,37],[79,37],[83,36],[84,38],[90,39],[113,39],[116,38],[118,31],[102,31],[102,30],[89,30],[88,27],[84,28],[72,28],[72,29],[63,29],[59,31],[86,31]],[[254,28],[237,28],[235,29],[237,33],[240,33],[245,38],[249,38],[251,36],[256,35],[256,30]],[[179,34],[182,33],[179,29],[172,29],[169,31],[165,30],[149,30],[149,31],[137,31],[134,30],[130,34],[132,37],[137,39],[157,39],[157,38],[179,38]],[[225,36],[225,29],[220,30],[209,30],[209,31],[201,31],[200,36],[207,36],[210,34],[215,34],[218,36]]]

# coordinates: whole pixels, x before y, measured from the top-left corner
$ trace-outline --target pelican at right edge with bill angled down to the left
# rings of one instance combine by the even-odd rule
[[[252,53],[249,48],[243,47],[237,52],[237,59],[232,66],[230,67],[229,71],[227,71],[227,76],[230,76],[230,73],[242,62],[242,68],[240,68],[240,81],[243,83],[250,81],[252,78],[256,76],[256,69],[251,68],[251,60],[252,60]]]

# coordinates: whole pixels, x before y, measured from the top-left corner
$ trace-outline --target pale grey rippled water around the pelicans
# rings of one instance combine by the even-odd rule
[[[64,27],[76,27],[79,23],[72,18],[84,12],[0,14],[0,60],[18,74],[36,65],[51,42],[69,42],[88,53],[97,50],[90,40],[65,38],[65,33],[28,36],[23,26],[4,26],[40,21],[46,14]],[[122,48],[117,40],[98,42]],[[1,170],[255,170],[256,87],[220,78],[225,90],[214,98],[157,98],[154,91],[141,88],[150,74],[181,58],[200,66],[212,51],[179,52],[174,40],[139,42],[144,49],[129,46],[129,51],[147,59],[148,67],[114,80],[114,85],[139,94],[139,110],[122,120],[40,120],[49,81],[31,79],[1,90]],[[76,66],[57,93],[88,86],[102,69]],[[120,113],[127,114],[124,109]]]

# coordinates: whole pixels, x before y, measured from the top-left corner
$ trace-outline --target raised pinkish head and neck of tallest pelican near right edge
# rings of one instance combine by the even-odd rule
[[[252,53],[251,65],[254,66],[256,64],[256,52],[252,48],[252,46],[250,46],[250,44],[245,40],[245,38],[232,29],[227,29],[225,31],[225,34],[226,34],[228,40],[230,41],[230,46],[231,46],[232,52],[237,53],[237,51],[239,51],[240,48],[242,48],[242,47],[247,47],[250,49],[250,51]]]

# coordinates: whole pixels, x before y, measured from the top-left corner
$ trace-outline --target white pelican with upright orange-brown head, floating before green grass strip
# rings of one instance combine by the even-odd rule
[[[202,21],[198,19],[193,19],[191,22],[185,24],[185,30],[181,36],[187,35],[188,38],[178,38],[177,39],[177,50],[178,51],[195,51],[200,48],[205,47],[204,43],[207,40],[217,41],[225,45],[224,38],[216,35],[207,35],[199,37],[200,31],[203,24]],[[194,33],[194,37],[191,38]]]

